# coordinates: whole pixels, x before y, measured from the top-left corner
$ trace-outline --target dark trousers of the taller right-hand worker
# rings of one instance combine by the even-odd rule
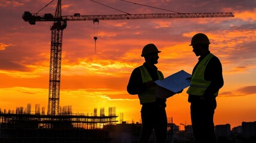
[[[194,138],[198,143],[216,143],[214,110],[216,100],[196,100],[190,105]]]

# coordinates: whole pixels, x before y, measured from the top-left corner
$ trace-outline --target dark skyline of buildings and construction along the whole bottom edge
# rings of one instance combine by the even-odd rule
[[[30,104],[27,104],[30,108]],[[137,142],[140,136],[141,123],[117,123],[117,116],[84,116],[81,114],[71,115],[66,113],[60,115],[41,115],[22,113],[22,107],[16,112],[0,112],[0,141],[16,142]],[[115,108],[109,108],[115,112]],[[97,111],[94,108],[94,115]],[[100,112],[104,111],[101,108]],[[112,113],[110,111],[110,113]],[[216,125],[215,133],[217,142],[254,142],[256,137],[256,121],[242,122],[242,126],[230,129],[230,125]],[[193,142],[192,125],[180,126],[169,123],[167,126],[166,142],[185,141]],[[155,141],[154,132],[150,141]]]

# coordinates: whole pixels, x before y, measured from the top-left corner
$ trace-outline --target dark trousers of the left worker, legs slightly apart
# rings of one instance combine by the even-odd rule
[[[165,143],[167,136],[167,117],[165,107],[143,105],[141,108],[142,129],[139,143],[148,143],[152,131],[155,132],[156,143]]]

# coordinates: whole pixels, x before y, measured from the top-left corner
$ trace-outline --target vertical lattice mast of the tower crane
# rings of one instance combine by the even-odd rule
[[[58,1],[54,19],[51,27],[48,115],[57,115],[60,107],[61,49],[63,29],[66,28],[64,22],[61,21],[61,1]]]

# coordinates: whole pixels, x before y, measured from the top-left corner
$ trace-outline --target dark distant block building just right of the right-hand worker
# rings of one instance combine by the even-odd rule
[[[230,130],[230,124],[226,124],[226,125],[216,125],[215,126],[215,135],[217,137],[219,136],[224,136],[226,138],[228,138],[231,134],[231,130]]]

